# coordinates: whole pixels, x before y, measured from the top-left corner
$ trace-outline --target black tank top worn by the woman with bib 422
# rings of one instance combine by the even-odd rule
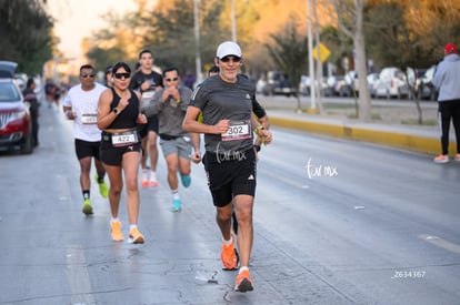
[[[117,94],[113,88],[111,88],[111,90],[112,90],[113,101],[110,104],[110,110],[113,110],[114,108],[118,106],[120,102],[120,96]],[[130,90],[130,92],[131,92],[131,98],[128,100],[129,103],[127,108],[123,109],[123,111],[121,111],[117,115],[113,122],[107,126],[107,129],[132,129],[137,126],[136,121],[139,115],[139,99],[138,99],[138,95],[136,95],[136,93],[132,90]]]

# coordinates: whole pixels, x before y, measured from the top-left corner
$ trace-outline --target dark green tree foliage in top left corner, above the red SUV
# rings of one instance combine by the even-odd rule
[[[53,22],[39,0],[0,1],[0,58],[18,63],[18,72],[39,74],[52,59]]]

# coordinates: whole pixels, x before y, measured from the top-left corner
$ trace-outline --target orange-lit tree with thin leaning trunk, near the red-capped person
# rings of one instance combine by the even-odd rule
[[[442,58],[442,45],[460,38],[460,9],[452,1],[376,1],[368,8],[369,49],[381,67],[406,72],[411,96],[423,123],[416,94],[413,70],[428,68]]]

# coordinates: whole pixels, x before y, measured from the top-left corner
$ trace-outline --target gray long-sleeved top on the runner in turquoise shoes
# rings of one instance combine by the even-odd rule
[[[142,111],[147,116],[158,114],[159,133],[172,136],[181,136],[188,134],[182,129],[182,121],[186,116],[187,108],[192,91],[183,85],[179,87],[180,102],[178,103],[171,96],[166,102],[161,100],[164,89],[154,92],[150,101],[142,102]]]

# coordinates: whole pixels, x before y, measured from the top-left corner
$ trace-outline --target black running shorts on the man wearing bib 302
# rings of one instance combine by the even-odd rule
[[[256,154],[250,149],[231,155],[206,152],[208,186],[216,206],[226,206],[236,195],[256,194]]]

